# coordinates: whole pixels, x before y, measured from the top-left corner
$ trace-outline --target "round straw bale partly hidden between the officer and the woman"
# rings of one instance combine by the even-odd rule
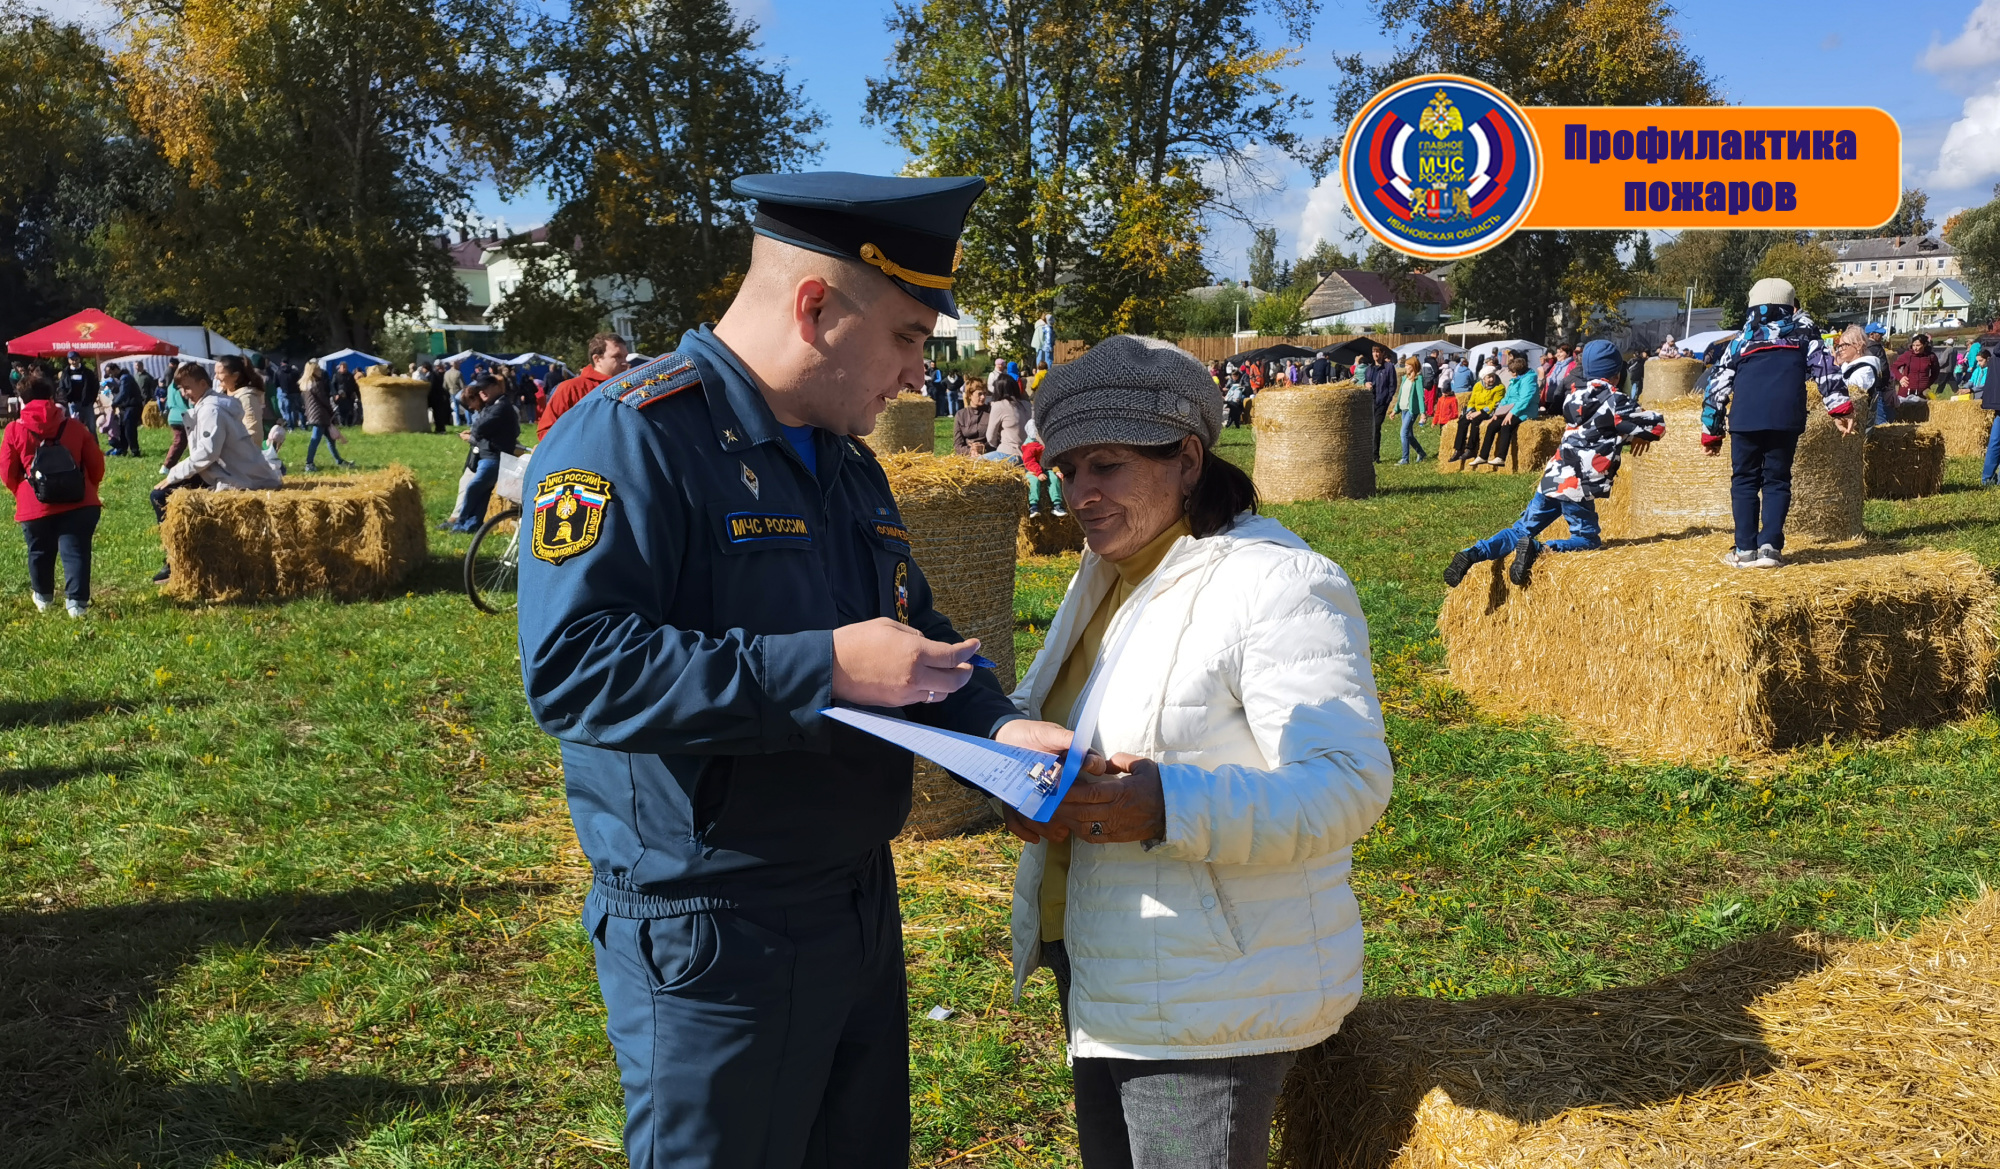
[[[960,637],[980,639],[980,653],[996,663],[1000,687],[1012,691],[1014,546],[1028,504],[1020,470],[918,450],[884,456],[882,470],[938,613]],[[916,763],[904,837],[930,841],[992,821],[982,793],[922,759]]]

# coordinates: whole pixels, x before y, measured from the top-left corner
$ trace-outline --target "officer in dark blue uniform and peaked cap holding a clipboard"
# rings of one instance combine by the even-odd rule
[[[908,1163],[888,841],[910,755],[842,703],[1030,745],[932,609],[864,442],[916,388],[978,178],[760,174],[742,290],[534,452],[528,703],[562,739],[636,1169]]]

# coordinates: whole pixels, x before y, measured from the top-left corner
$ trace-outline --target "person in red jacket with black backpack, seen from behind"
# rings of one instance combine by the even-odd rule
[[[56,380],[48,370],[30,370],[20,384],[20,418],[0,436],[0,484],[14,492],[14,518],[28,538],[28,587],[34,607],[48,611],[56,603],[56,556],[62,556],[64,593],[70,617],[90,609],[90,538],[98,530],[104,504],[98,484],[104,482],[104,452],[96,434],[70,418],[56,404]],[[78,502],[42,502],[34,496],[28,472],[42,442],[60,442],[84,472],[84,498]]]

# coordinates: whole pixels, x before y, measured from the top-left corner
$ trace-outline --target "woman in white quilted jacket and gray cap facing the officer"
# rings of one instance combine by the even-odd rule
[[[1114,336],[1056,366],[1036,424],[1090,550],[1014,705],[1120,775],[1008,819],[1016,993],[1056,973],[1086,1169],[1262,1167],[1294,1055],[1362,989],[1350,847],[1392,775],[1368,623],[1254,514],[1178,348]]]

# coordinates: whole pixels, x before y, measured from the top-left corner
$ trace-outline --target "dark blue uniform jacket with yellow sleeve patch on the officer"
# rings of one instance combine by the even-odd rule
[[[960,639],[874,454],[814,440],[818,478],[704,326],[582,398],[534,452],[522,683],[562,741],[602,883],[802,895],[910,813],[910,753],[820,717],[832,631],[890,617]],[[984,669],[942,703],[888,713],[968,735],[1020,717]]]

